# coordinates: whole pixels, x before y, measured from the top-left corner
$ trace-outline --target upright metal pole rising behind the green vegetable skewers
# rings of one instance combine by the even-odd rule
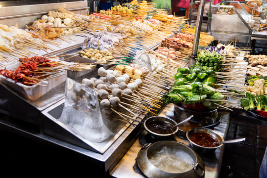
[[[192,48],[192,54],[189,56],[188,67],[190,67],[192,64],[196,64],[196,56],[197,56],[199,37],[200,37],[201,26],[202,26],[204,7],[205,7],[205,0],[200,0],[200,4],[198,6],[198,12],[197,12],[194,43],[193,43],[193,48]]]

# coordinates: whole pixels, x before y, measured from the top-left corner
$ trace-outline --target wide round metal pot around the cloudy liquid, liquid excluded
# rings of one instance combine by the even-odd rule
[[[194,167],[186,172],[169,173],[160,170],[149,161],[149,156],[162,147],[176,148],[178,151],[184,151],[194,160]],[[148,178],[203,178],[205,174],[204,162],[196,155],[196,153],[188,146],[176,141],[158,141],[144,145],[138,152],[137,165],[142,173]]]

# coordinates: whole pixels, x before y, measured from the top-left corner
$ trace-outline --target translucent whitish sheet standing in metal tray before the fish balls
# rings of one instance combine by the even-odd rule
[[[103,123],[96,92],[69,78],[64,108],[58,120],[91,142],[104,142],[114,136]]]

